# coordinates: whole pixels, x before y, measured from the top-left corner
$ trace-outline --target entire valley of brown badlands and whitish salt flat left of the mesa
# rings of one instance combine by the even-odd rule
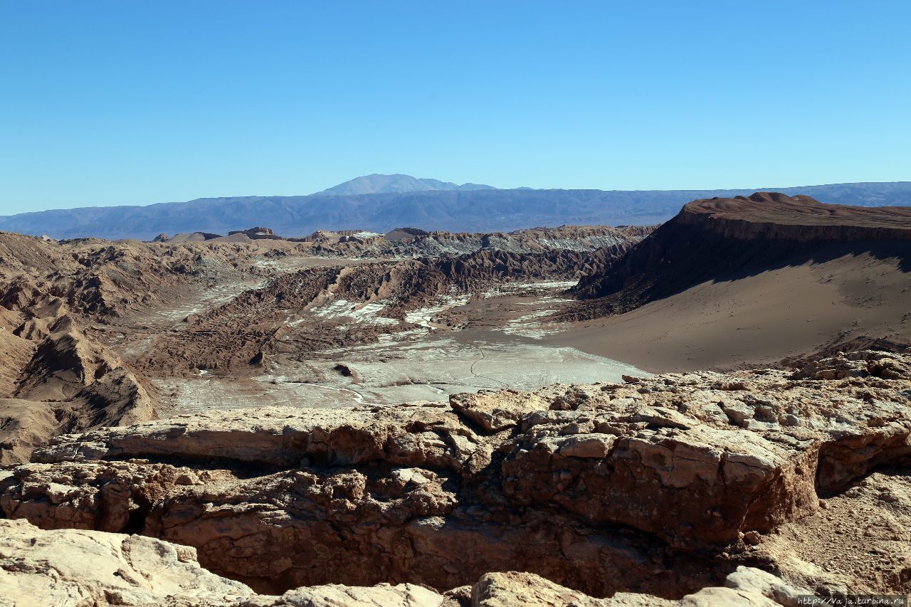
[[[635,374],[539,345],[539,319],[650,231],[0,234],[0,461],[61,432],[175,412],[445,401]],[[530,372],[529,357],[549,365]]]

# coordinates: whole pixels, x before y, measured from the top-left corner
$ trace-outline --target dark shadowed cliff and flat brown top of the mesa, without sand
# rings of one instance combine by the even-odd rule
[[[756,192],[693,201],[605,273],[583,277],[589,317],[625,312],[708,280],[735,280],[787,265],[870,252],[911,264],[911,209],[823,204]]]

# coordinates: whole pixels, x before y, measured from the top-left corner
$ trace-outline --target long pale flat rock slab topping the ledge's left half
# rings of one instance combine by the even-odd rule
[[[370,461],[458,471],[477,438],[451,410],[435,404],[298,409],[261,407],[170,417],[131,427],[60,436],[36,460],[194,458],[296,467]]]

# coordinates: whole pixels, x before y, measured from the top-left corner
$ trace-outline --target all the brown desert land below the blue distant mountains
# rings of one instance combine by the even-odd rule
[[[155,240],[0,235],[0,602],[911,592],[907,209]]]

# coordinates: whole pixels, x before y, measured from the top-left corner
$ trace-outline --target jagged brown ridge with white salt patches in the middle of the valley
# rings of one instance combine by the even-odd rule
[[[505,252],[482,250],[454,257],[312,267],[282,274],[227,304],[189,317],[178,334],[155,337],[137,361],[150,373],[180,375],[196,368],[244,373],[261,353],[313,352],[369,344],[380,335],[415,328],[409,312],[440,299],[476,297],[510,283],[573,281],[626,250]],[[314,309],[332,305],[333,314]],[[350,313],[372,304],[383,322],[353,323]],[[333,318],[337,316],[337,318]],[[295,319],[289,326],[286,321]],[[368,319],[369,320],[369,319]]]

